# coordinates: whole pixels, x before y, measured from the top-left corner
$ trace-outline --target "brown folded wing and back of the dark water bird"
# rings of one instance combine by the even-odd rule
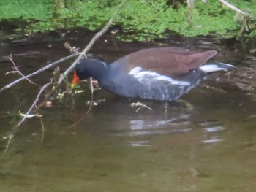
[[[216,54],[217,51],[215,50],[195,52],[179,47],[159,47],[131,53],[119,58],[117,62],[125,63],[128,71],[140,66],[143,70],[176,76],[196,69]]]

